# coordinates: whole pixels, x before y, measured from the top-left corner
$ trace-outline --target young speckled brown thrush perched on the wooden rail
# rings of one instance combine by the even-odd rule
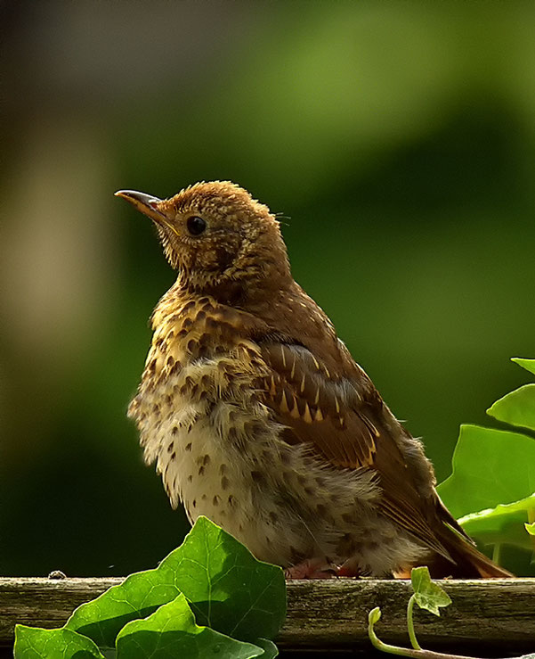
[[[435,490],[434,468],[294,280],[280,222],[230,181],[148,216],[177,271],[128,408],[170,503],[288,579],[507,577]]]

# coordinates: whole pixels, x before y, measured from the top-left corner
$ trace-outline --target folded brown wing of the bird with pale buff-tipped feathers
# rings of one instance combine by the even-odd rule
[[[272,342],[264,344],[262,352],[272,369],[263,382],[263,402],[285,426],[284,439],[310,445],[338,468],[375,470],[384,490],[381,512],[451,560],[432,530],[440,523],[435,512],[438,499],[418,492],[414,465],[408,464],[414,460],[403,457],[393,433],[403,435],[408,449],[421,448],[386,410],[368,377],[362,374],[362,383],[337,378],[299,345]],[[422,461],[426,467],[423,454]],[[430,482],[429,472],[427,478]]]

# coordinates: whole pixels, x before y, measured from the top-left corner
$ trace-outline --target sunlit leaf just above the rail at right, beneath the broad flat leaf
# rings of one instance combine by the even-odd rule
[[[468,535],[483,545],[514,545],[533,550],[533,541],[524,531],[524,523],[533,510],[535,494],[512,504],[499,504],[494,508],[465,515],[458,522]]]

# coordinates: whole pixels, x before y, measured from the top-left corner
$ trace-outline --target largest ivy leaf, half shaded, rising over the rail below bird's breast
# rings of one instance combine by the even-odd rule
[[[284,573],[255,557],[206,517],[158,568],[132,574],[93,602],[81,605],[67,627],[101,647],[119,630],[183,593],[201,625],[239,640],[273,638],[286,615]]]

